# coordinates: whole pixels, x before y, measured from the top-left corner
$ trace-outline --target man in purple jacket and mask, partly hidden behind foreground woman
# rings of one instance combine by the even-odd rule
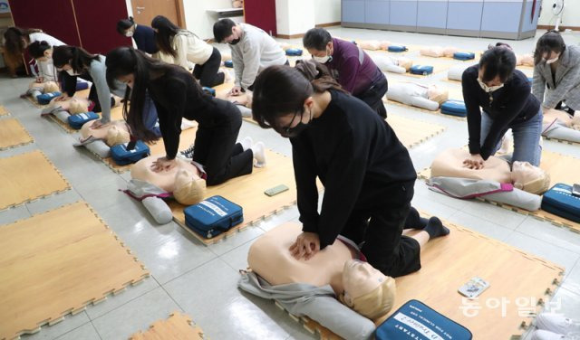
[[[382,103],[388,89],[387,78],[366,52],[353,42],[333,38],[324,28],[308,30],[303,44],[315,61],[328,67],[344,90],[387,118]]]

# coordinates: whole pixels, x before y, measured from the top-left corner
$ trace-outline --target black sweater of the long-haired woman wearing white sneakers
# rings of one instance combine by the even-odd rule
[[[198,87],[191,73],[179,66],[172,66],[170,71],[150,80],[148,90],[157,109],[169,159],[178,153],[181,118],[196,120],[198,128],[216,130],[233,130],[239,120],[240,113],[234,104],[211,97]]]

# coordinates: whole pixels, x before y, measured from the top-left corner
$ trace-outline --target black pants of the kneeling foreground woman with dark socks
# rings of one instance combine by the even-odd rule
[[[364,241],[362,253],[372,267],[392,278],[420,269],[420,244],[402,235],[411,212],[415,181],[391,184],[381,203],[351,213],[341,234],[355,243]]]

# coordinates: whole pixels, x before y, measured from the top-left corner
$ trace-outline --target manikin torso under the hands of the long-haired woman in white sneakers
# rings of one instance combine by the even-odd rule
[[[175,191],[180,183],[188,183],[191,178],[199,178],[199,170],[196,165],[188,161],[175,158],[177,165],[166,171],[154,172],[151,170],[153,162],[158,156],[149,156],[141,159],[131,166],[131,178],[154,184],[168,193]]]

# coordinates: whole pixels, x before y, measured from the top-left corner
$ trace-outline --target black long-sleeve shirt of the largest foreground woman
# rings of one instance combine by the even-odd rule
[[[391,127],[360,99],[330,90],[319,118],[290,138],[303,231],[333,244],[354,209],[372,209],[392,184],[417,178],[411,157]],[[324,184],[318,213],[316,176]]]

